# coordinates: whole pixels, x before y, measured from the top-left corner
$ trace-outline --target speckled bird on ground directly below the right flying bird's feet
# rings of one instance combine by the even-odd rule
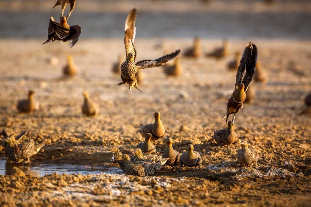
[[[214,131],[213,138],[219,145],[230,145],[237,141],[238,135],[234,132],[234,124],[228,122],[228,128]]]

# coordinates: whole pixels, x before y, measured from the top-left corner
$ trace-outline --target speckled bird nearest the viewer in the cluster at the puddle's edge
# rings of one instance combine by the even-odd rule
[[[128,155],[123,155],[124,160],[124,172],[128,175],[146,176],[153,175],[156,171],[156,165],[160,161],[154,161],[152,163],[146,162],[132,162]]]

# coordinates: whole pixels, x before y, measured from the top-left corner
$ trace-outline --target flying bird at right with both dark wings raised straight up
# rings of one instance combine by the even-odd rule
[[[257,47],[252,42],[248,43],[244,49],[239,68],[236,74],[235,90],[227,101],[227,111],[222,120],[226,118],[228,122],[229,115],[233,115],[232,124],[234,124],[235,115],[243,108],[243,101],[246,98],[248,85],[251,83],[257,62]],[[245,76],[244,76],[245,72]]]

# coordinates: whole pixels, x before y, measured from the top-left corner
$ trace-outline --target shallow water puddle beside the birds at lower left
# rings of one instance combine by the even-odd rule
[[[75,164],[39,164],[35,165],[33,163],[30,164],[16,164],[16,163],[8,163],[5,159],[0,159],[0,175],[12,175],[13,167],[18,167],[25,174],[44,176],[45,174],[98,174],[98,173],[108,173],[108,174],[122,174],[123,171],[117,167],[111,168],[100,168],[95,167],[91,168],[88,165],[75,165]]]

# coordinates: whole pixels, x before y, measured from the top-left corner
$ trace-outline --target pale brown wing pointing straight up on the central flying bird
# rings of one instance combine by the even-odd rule
[[[136,50],[133,43],[136,34],[136,27],[135,27],[136,16],[137,16],[137,9],[134,8],[132,9],[132,11],[130,11],[130,13],[128,13],[128,17],[126,18],[124,27],[125,31],[124,44],[126,56],[128,56],[128,53],[132,53],[135,59],[136,59]]]

